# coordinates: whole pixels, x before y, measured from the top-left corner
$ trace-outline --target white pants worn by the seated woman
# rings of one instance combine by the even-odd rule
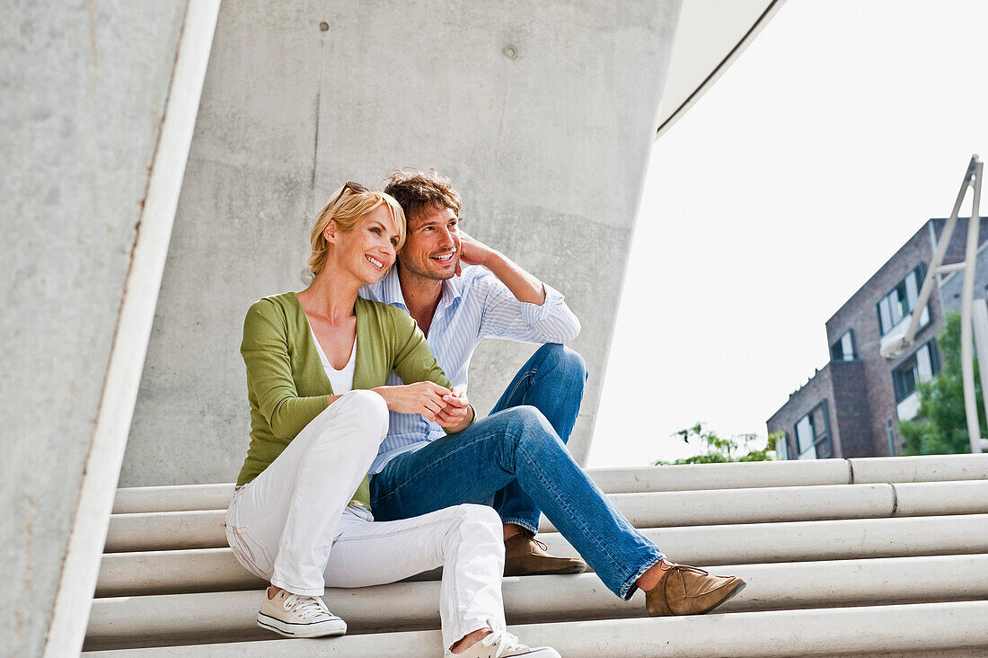
[[[392,583],[444,566],[443,643],[488,621],[503,628],[504,542],[493,509],[458,505],[421,517],[374,521],[347,507],[387,431],[371,391],[346,394],[298,432],[253,482],[237,490],[226,538],[251,573],[292,594]]]

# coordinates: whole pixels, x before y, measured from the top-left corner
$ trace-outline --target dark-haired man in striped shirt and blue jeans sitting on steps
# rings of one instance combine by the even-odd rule
[[[580,325],[562,295],[504,254],[459,231],[459,194],[435,171],[396,171],[385,193],[401,205],[406,240],[397,263],[362,294],[407,311],[462,392],[484,338],[543,344],[490,416],[447,436],[421,416],[391,414],[371,465],[371,508],[380,520],[460,503],[492,505],[504,523],[505,574],[579,573],[582,560],[549,555],[535,540],[541,512],[617,596],[646,591],[652,614],[710,611],[744,587],[667,562],[617,512],[566,451],[586,367],[562,346]],[[392,373],[389,384],[401,381]],[[441,420],[472,415],[447,396]]]

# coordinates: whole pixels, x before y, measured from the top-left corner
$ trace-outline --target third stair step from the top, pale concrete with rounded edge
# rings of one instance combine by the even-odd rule
[[[700,566],[988,553],[988,515],[700,525],[641,531],[670,559]],[[556,555],[577,554],[559,533],[539,536]],[[237,563],[229,548],[108,553],[103,556],[96,596],[254,590],[265,585]]]

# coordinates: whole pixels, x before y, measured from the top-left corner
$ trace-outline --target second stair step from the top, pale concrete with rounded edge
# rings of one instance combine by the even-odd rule
[[[988,514],[988,480],[615,494],[635,527]],[[222,548],[225,511],[114,515],[105,551]],[[542,532],[554,531],[544,517]]]

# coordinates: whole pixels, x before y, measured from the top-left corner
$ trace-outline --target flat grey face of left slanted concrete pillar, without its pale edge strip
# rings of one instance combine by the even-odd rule
[[[2,655],[44,645],[185,8],[0,3]]]

